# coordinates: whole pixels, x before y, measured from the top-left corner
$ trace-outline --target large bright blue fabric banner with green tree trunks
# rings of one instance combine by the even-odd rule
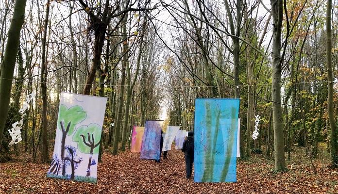
[[[195,182],[236,182],[239,99],[195,99]]]

